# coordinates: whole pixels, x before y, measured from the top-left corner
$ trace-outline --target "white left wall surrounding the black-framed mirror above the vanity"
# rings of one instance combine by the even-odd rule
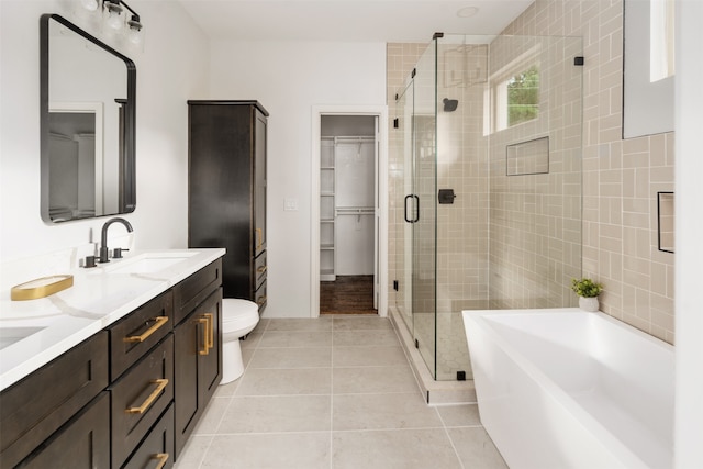
[[[40,15],[71,20],[69,4],[0,1],[1,261],[85,244],[91,230],[99,241],[107,220],[47,225],[40,216]],[[146,42],[143,53],[125,51],[137,67],[137,204],[125,217],[137,248],[185,247],[186,100],[207,92],[208,38],[177,2],[132,0],[130,5],[141,14]]]

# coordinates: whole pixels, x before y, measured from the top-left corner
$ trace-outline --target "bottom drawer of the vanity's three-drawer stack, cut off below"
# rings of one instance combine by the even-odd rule
[[[156,422],[123,469],[174,467],[174,404]]]

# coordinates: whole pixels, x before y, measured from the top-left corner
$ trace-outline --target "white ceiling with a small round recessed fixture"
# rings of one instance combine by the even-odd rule
[[[427,43],[498,34],[533,0],[179,0],[213,40]],[[476,14],[458,12],[475,7]],[[471,10],[465,12],[470,12]]]

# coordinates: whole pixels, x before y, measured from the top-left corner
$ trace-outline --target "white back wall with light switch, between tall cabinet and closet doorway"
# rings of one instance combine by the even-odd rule
[[[386,44],[213,42],[211,99],[258,100],[268,127],[266,316],[310,316],[312,107],[384,105]],[[297,212],[283,200],[298,199]],[[314,203],[319,203],[317,200]]]

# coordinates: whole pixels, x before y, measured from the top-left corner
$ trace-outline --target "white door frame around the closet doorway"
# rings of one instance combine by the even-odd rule
[[[310,316],[320,316],[320,126],[323,115],[368,115],[378,118],[378,315],[388,315],[388,107],[387,105],[313,105],[312,107],[312,197],[310,205],[311,288]]]

